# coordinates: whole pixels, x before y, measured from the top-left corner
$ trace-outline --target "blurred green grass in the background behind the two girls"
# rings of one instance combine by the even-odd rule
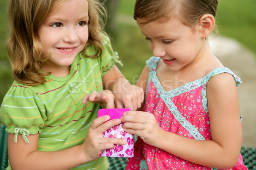
[[[7,2],[0,0],[0,102],[13,81],[6,51]],[[140,75],[145,60],[152,55],[148,42],[144,41],[145,37],[133,19],[134,2],[116,0],[116,15],[113,9],[110,11],[110,14],[113,13],[110,18],[113,27],[108,27],[111,29],[113,49],[119,53],[124,64],[119,68],[132,84]],[[216,20],[219,34],[238,40],[256,54],[256,0],[219,0]]]

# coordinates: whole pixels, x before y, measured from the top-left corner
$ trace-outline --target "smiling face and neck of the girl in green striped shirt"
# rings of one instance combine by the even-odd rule
[[[50,54],[43,71],[64,77],[70,65],[88,40],[87,0],[67,0],[53,6],[44,23],[39,27],[39,37],[44,54]]]

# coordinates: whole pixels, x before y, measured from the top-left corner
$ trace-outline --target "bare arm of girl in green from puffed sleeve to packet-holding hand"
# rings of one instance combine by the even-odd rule
[[[120,119],[101,116],[93,120],[83,144],[64,150],[43,152],[37,151],[39,134],[29,135],[29,144],[18,135],[17,143],[14,134],[9,133],[8,153],[13,170],[68,170],[87,161],[97,159],[102,150],[113,148],[114,144],[125,144],[124,139],[105,138],[102,133],[108,128],[120,124]],[[105,123],[104,123],[105,122]]]

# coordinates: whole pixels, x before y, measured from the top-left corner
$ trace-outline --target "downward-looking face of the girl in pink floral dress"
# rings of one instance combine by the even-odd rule
[[[146,24],[138,23],[141,32],[149,41],[153,55],[160,57],[172,71],[179,71],[195,61],[200,54],[204,38],[198,31],[183,25],[172,17],[166,22],[153,21]]]

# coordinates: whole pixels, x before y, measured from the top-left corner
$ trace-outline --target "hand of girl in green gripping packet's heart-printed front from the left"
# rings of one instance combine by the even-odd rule
[[[110,116],[101,116],[93,120],[90,128],[88,130],[87,136],[82,144],[84,150],[87,154],[87,158],[91,160],[97,159],[102,153],[102,150],[114,148],[114,144],[125,144],[125,139],[119,138],[107,138],[103,137],[102,133],[108,128],[121,123],[120,119],[113,119],[111,121],[105,122],[110,119]]]

